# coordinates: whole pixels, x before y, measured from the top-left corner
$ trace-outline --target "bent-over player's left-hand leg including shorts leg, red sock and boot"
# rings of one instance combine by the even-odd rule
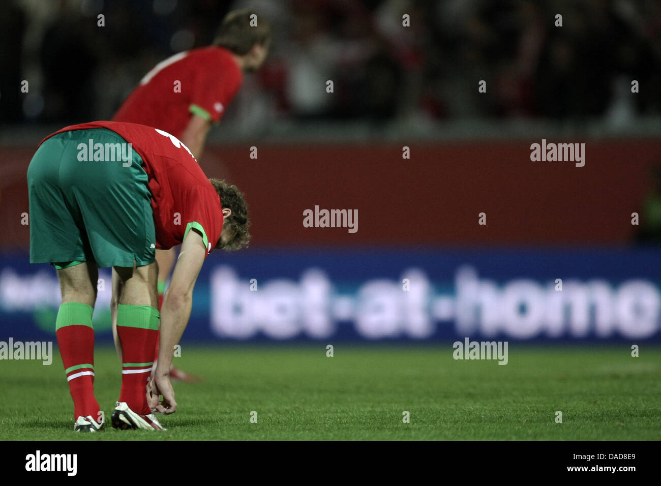
[[[66,200],[59,180],[61,161],[75,157],[75,145],[54,136],[42,143],[30,161],[30,262],[54,263],[58,268],[62,304],[56,335],[73,398],[74,430],[95,431],[103,426],[98,423],[99,407],[94,395],[92,312],[98,270],[85,245],[76,208]]]

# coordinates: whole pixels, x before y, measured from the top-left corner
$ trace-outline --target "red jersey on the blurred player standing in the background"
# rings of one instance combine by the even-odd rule
[[[191,113],[212,123],[220,120],[242,81],[241,69],[225,48],[180,52],[149,71],[112,120],[153,126],[181,137]]]

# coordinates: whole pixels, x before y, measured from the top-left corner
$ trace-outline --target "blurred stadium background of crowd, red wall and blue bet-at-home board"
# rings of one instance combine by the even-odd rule
[[[659,341],[661,4],[627,0],[4,2],[0,340],[54,339],[56,275],[24,224],[40,140],[110,118],[245,6],[271,55],[200,164],[245,192],[253,242],[210,256],[184,342]],[[585,143],[584,167],[531,161],[542,139]],[[315,205],[358,231],[304,227]]]

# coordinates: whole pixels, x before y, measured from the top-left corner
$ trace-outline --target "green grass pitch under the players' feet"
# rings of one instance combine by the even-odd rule
[[[317,346],[184,344],[176,366],[204,377],[175,384],[164,432],[119,431],[113,348],[97,347],[106,431],[73,432],[59,354],[53,364],[0,362],[2,440],[659,440],[661,348],[510,343],[509,362],[453,360],[451,344]],[[251,411],[257,422],[251,423]],[[410,423],[403,423],[403,412]],[[556,423],[555,412],[563,413]]]

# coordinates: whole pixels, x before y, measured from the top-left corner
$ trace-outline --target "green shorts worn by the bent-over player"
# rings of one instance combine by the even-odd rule
[[[106,268],[155,261],[147,173],[112,130],[62,132],[42,143],[28,167],[28,196],[30,263]]]

